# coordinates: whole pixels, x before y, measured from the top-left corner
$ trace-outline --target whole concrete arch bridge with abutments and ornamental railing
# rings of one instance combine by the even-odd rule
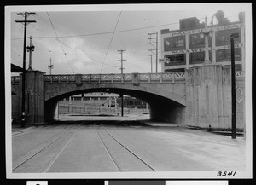
[[[19,120],[21,78],[12,77],[12,117]],[[236,73],[240,94],[244,73]],[[26,122],[54,118],[58,101],[87,92],[131,95],[150,105],[150,119],[201,127],[227,128],[231,123],[230,67],[197,66],[185,72],[130,74],[45,75],[26,73]],[[230,90],[231,92],[231,90]],[[244,124],[243,101],[238,105],[238,127]],[[239,121],[240,120],[240,121]]]

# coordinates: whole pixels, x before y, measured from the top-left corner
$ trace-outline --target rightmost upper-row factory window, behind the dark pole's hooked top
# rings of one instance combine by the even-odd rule
[[[238,33],[239,38],[235,39],[235,43],[241,43],[241,30],[232,29],[232,30],[220,30],[216,32],[216,46],[220,45],[229,45],[230,44],[230,35],[233,33]]]

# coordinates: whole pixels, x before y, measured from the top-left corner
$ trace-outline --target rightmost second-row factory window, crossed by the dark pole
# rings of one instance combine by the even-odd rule
[[[231,61],[231,49],[217,50],[217,61]],[[241,61],[241,48],[235,49],[235,60]]]

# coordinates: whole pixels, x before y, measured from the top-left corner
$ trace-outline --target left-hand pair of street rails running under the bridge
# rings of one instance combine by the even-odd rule
[[[46,150],[47,148],[53,146],[53,145],[57,145],[57,142],[61,141],[61,138],[63,138],[64,136],[67,136],[68,133],[71,133],[72,130],[74,129],[75,126],[77,126],[79,128],[79,126],[81,125],[81,121],[75,122],[72,125],[65,127],[64,130],[61,130],[58,134],[56,134],[55,139],[48,142],[47,144],[44,145],[44,147],[41,147],[40,149],[38,149],[37,152],[32,153],[32,155],[26,157],[26,159],[22,160],[18,165],[15,165],[15,167],[13,167],[12,171],[13,172],[19,172],[22,171],[23,168],[26,168],[26,165],[30,163],[30,161],[32,161],[33,159],[36,159],[40,153],[43,153],[44,150]],[[54,125],[54,127],[57,125]],[[49,161],[49,164],[47,164],[44,169],[41,172],[47,172],[50,168],[51,165],[53,165],[55,159],[58,158],[58,156],[61,154],[61,152],[65,149],[65,147],[67,147],[68,143],[71,142],[71,140],[73,139],[73,136],[75,136],[75,132],[73,133],[73,135],[68,139],[68,141],[66,142],[66,144],[64,145],[64,147],[61,148],[61,150],[55,154],[55,157],[53,159],[51,159]]]

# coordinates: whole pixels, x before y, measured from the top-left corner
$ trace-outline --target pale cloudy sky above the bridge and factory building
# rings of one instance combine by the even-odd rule
[[[19,6],[9,7],[9,62],[23,65],[24,26],[15,20],[24,20],[20,12],[35,12],[28,20],[36,20],[27,26],[26,46],[32,36],[32,69],[49,74],[120,73],[123,53],[124,73],[150,72],[151,52],[154,44],[148,44],[148,33],[158,32],[158,55],[161,57],[160,30],[179,29],[179,20],[197,17],[200,22],[223,10],[230,21],[238,21],[238,14],[247,9],[245,3],[201,4],[136,4],[136,5],[80,5],[80,6]],[[213,19],[214,23],[217,22]],[[153,41],[153,40],[152,40]],[[26,68],[29,53],[26,52]],[[153,72],[155,72],[153,56]],[[158,63],[158,72],[160,63]]]

